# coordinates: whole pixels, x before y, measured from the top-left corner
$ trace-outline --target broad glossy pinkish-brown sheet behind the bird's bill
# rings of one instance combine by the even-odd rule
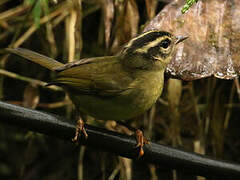
[[[166,74],[183,80],[240,73],[240,1],[198,1],[181,14],[185,0],[167,5],[144,31],[162,29],[189,39],[176,48]]]

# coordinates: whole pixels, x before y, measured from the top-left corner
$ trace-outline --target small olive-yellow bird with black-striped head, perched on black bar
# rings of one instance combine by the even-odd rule
[[[150,30],[126,43],[113,56],[83,58],[63,64],[55,59],[24,48],[6,51],[37,63],[56,77],[48,85],[58,85],[68,93],[77,111],[101,120],[124,121],[143,114],[162,93],[164,71],[176,45],[187,36]],[[84,121],[78,118],[73,141],[81,133],[87,138]],[[136,131],[139,155],[148,141]]]

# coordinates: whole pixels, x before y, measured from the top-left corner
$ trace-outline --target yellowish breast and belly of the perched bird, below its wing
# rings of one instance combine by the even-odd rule
[[[161,95],[164,72],[148,72],[133,81],[130,88],[116,97],[73,95],[77,108],[95,118],[126,120],[148,110]]]

